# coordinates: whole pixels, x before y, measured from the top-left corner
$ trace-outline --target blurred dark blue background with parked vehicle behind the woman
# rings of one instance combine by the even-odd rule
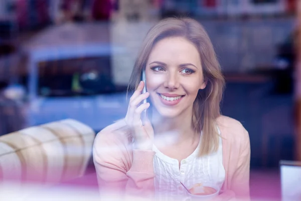
[[[174,16],[209,33],[226,77],[222,114],[250,135],[251,181],[277,183],[279,161],[301,146],[297,0],[1,0],[0,135],[68,118],[98,132],[123,118],[140,44]]]

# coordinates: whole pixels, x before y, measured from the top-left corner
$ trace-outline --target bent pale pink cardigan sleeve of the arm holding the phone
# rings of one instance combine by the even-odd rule
[[[154,151],[129,152],[120,139],[112,133],[99,133],[93,145],[93,161],[97,174],[100,195],[118,193],[118,196],[154,195]],[[126,167],[129,167],[128,171]]]

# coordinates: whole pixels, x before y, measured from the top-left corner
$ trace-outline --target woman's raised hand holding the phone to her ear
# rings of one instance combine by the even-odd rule
[[[147,118],[144,126],[141,121],[141,113],[149,108],[149,103],[139,105],[142,100],[149,96],[148,92],[141,94],[143,86],[144,82],[140,81],[137,89],[130,97],[125,122],[133,132],[134,149],[151,150],[154,141],[153,126]]]

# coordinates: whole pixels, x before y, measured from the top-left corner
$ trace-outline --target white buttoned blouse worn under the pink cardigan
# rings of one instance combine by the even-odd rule
[[[220,134],[219,129],[218,132]],[[199,149],[200,144],[190,156],[181,161],[179,169],[177,159],[164,155],[155,145],[153,146],[153,150],[156,152],[154,157],[156,199],[171,200],[185,196],[186,191],[180,181],[188,188],[196,183],[208,183],[222,187],[225,180],[225,169],[221,137],[217,152],[197,157]]]

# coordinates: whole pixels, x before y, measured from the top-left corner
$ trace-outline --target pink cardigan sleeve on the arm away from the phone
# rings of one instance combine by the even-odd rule
[[[240,145],[238,166],[234,172],[231,190],[234,191],[238,200],[249,200],[249,177],[250,177],[250,139],[248,132],[243,129],[243,137]]]

